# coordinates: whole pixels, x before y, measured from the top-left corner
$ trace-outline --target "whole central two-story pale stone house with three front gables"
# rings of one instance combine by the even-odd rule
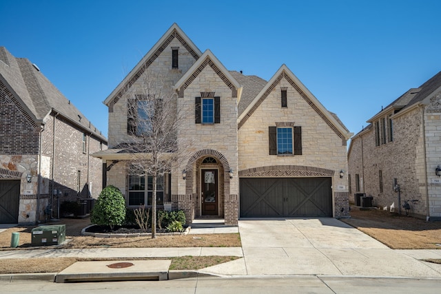
[[[104,101],[110,149],[94,156],[103,159],[107,184],[119,187],[129,206],[132,193],[139,191],[120,148],[132,140],[121,97],[128,87],[139,87],[146,68],[167,76],[179,109],[196,107],[178,129],[178,136],[195,139],[191,146],[180,146],[192,154],[164,178],[160,206],[169,202],[183,209],[187,222],[349,216],[346,142],[351,134],[337,116],[285,65],[270,81],[228,71],[176,24]],[[200,105],[207,111],[200,112]]]

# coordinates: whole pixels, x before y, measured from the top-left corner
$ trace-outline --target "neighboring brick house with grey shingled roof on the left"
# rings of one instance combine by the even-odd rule
[[[59,217],[59,204],[97,197],[105,136],[37,65],[0,47],[0,223]],[[52,207],[52,209],[47,209]]]

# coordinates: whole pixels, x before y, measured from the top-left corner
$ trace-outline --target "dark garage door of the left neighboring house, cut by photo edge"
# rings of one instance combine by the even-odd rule
[[[0,180],[0,224],[17,224],[20,180]]]

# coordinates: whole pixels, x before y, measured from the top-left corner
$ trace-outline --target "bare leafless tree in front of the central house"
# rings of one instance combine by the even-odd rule
[[[147,177],[152,177],[152,238],[156,238],[158,180],[188,156],[192,142],[178,136],[178,127],[188,112],[178,109],[172,82],[167,83],[165,76],[148,69],[127,89],[124,97],[127,133],[131,140],[120,145],[130,154],[132,175],[143,177],[145,186],[148,185]]]

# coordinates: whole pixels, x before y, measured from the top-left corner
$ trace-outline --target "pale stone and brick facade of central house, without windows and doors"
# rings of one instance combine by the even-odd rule
[[[176,49],[178,67],[174,68],[172,52]],[[147,72],[165,76],[163,86],[174,88],[178,112],[186,114],[176,131],[178,141],[185,142],[178,148],[185,150],[187,157],[174,162],[167,201],[172,202],[173,209],[185,211],[187,222],[209,217],[203,213],[201,176],[204,169],[213,169],[218,174],[218,206],[214,217],[224,218],[225,224],[238,222],[239,180],[241,176],[249,176],[247,173],[251,169],[264,169],[266,174],[260,176],[269,177],[325,175],[336,187],[330,196],[334,204],[333,216],[348,216],[347,176],[339,176],[340,170],[347,171],[349,132],[345,127],[287,69],[269,82],[269,90],[259,101],[249,100],[253,107],[241,117],[238,103],[243,85],[212,52],[200,52],[176,24],[105,100],[109,107],[109,144],[114,152],[95,156],[106,162],[107,184],[121,189],[126,199],[130,159],[129,155],[121,154],[121,150],[124,144],[136,138],[127,134],[128,109],[124,94],[128,89],[136,93],[136,89],[143,86],[141,83]],[[280,87],[287,88],[289,96],[289,105],[285,108],[280,107]],[[251,92],[258,94],[256,89]],[[200,106],[197,101],[201,97],[218,99],[218,121],[198,123],[197,107]],[[268,127],[280,123],[302,127],[304,151],[301,156],[268,155]]]

